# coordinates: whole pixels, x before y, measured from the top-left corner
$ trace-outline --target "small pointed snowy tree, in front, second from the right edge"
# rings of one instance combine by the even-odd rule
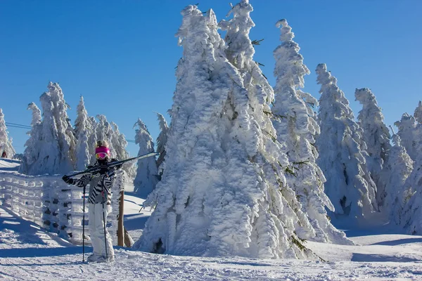
[[[407,203],[408,191],[404,183],[413,170],[413,161],[403,148],[400,137],[392,135],[392,143],[387,162],[384,164],[383,176],[385,185],[385,200],[383,211],[390,217],[390,221],[402,224],[404,205]]]

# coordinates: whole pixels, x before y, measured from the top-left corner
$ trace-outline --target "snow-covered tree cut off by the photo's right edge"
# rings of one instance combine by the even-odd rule
[[[411,235],[422,234],[422,124],[414,129],[416,158],[414,169],[404,183],[404,207],[402,226]]]

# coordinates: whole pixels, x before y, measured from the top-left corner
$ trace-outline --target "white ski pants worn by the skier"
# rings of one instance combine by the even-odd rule
[[[104,206],[104,216],[103,216]],[[114,256],[113,242],[106,227],[106,241],[104,240],[104,220],[111,211],[111,206],[102,203],[89,204],[89,236],[91,236],[91,244],[94,249],[94,255],[106,257],[106,241],[107,241],[107,256]]]

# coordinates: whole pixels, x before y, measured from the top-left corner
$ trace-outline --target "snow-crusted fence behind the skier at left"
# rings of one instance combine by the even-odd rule
[[[113,186],[116,193],[113,214],[109,216],[111,233],[117,230],[119,208],[116,202],[123,185],[124,174],[119,172]],[[87,212],[88,204],[85,203]],[[74,244],[82,244],[83,189],[67,185],[59,175],[27,176],[18,172],[0,172],[0,204]],[[85,214],[87,220],[88,214]],[[87,223],[85,226],[87,228]],[[117,241],[115,235],[113,241]]]

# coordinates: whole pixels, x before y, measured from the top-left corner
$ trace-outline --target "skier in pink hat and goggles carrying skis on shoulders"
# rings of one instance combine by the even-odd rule
[[[98,141],[95,149],[97,166],[103,166],[116,159],[110,159],[110,150],[106,141]],[[113,243],[106,228],[106,218],[111,212],[111,187],[115,181],[115,169],[122,165],[108,169],[104,167],[96,174],[84,174],[75,179],[63,176],[63,181],[81,188],[89,184],[89,235],[94,253],[87,261],[114,261]],[[89,166],[90,168],[92,166]]]

